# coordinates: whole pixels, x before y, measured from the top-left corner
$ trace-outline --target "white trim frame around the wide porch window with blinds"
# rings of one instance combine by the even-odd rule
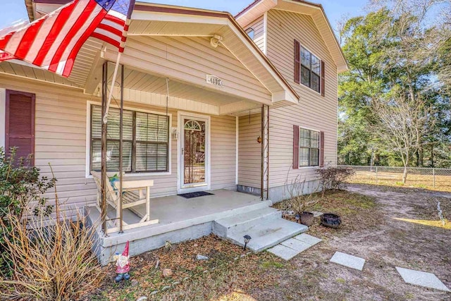
[[[101,106],[100,102],[92,102],[88,100],[86,102],[86,162],[85,162],[85,178],[92,178],[91,175],[91,115],[92,110],[91,106]],[[112,108],[119,109],[119,106],[111,104]],[[151,113],[156,115],[165,116],[166,113],[161,111],[151,111],[146,109],[135,108],[132,106],[124,106],[124,110],[136,111],[140,113]],[[152,172],[140,172],[140,173],[125,173],[125,178],[132,177],[145,177],[145,176],[170,176],[172,174],[172,137],[171,137],[171,128],[172,128],[172,113],[168,113],[169,117],[169,135],[168,135],[168,171],[152,171]]]

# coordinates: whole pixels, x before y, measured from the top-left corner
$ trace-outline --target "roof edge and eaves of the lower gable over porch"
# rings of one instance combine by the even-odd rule
[[[25,5],[27,8],[31,8],[29,10],[29,17],[30,20],[34,20],[35,18],[39,18],[39,13],[53,11],[55,6],[61,6],[68,2],[70,0],[25,0]],[[247,66],[251,73],[272,92],[273,99],[278,99],[279,101],[285,99],[291,103],[297,103],[299,101],[297,92],[293,90],[283,75],[280,74],[273,63],[261,52],[259,47],[254,44],[252,39],[249,38],[230,13],[209,11],[200,8],[149,4],[137,1],[133,10],[132,23],[144,21],[154,24],[166,22],[170,26],[163,26],[166,27],[167,31],[164,33],[165,35],[193,35],[204,37],[211,36],[212,33],[221,35],[225,38],[222,44],[237,56],[237,59]],[[214,25],[220,26],[216,26],[216,28]],[[161,35],[161,29],[155,29],[155,32],[133,32],[132,27],[130,25],[129,35],[134,33],[135,35]],[[216,30],[217,32],[211,32],[211,30]],[[87,52],[94,53],[92,49],[100,51],[101,47],[98,45],[89,44],[94,42],[87,41],[86,44],[88,44],[87,47],[89,48]],[[84,48],[85,46],[80,49],[80,53],[83,54]],[[84,60],[86,61],[87,59],[94,63],[95,56],[84,56]],[[73,74],[70,75],[69,80],[75,80],[76,78],[79,81],[79,85],[84,85],[89,76],[89,70],[85,70],[85,66],[80,65],[83,68],[80,68],[80,74],[78,74],[77,65],[78,61],[76,60]]]

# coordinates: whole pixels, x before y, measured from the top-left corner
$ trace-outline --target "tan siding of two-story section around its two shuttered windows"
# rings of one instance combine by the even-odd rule
[[[292,125],[325,133],[325,164],[336,164],[337,68],[310,16],[287,11],[268,11],[267,56],[299,94],[299,105],[271,109],[270,187],[284,185],[292,166]],[[312,51],[326,63],[326,97],[294,82],[293,41]],[[314,168],[290,171],[290,179],[302,173],[316,177]]]

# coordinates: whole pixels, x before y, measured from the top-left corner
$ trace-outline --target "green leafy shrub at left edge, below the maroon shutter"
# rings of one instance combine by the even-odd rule
[[[11,217],[19,221],[34,206],[35,215],[49,215],[52,207],[42,195],[54,186],[55,180],[39,177],[39,168],[29,166],[30,158],[15,158],[16,149],[6,157],[0,148],[0,271],[3,276],[11,276],[13,266],[6,250],[5,240],[11,237],[14,227]]]

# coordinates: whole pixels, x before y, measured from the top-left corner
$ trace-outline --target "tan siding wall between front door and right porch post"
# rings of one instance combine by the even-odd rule
[[[260,188],[261,145],[260,114],[241,116],[238,135],[238,184]]]

